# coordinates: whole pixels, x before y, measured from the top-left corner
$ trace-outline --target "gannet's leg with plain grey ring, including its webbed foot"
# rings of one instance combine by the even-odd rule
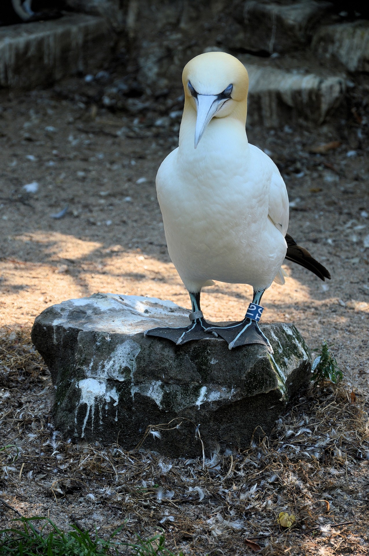
[[[209,323],[204,319],[203,311],[200,309],[200,292],[189,292],[191,298],[192,312],[189,314],[191,324],[180,328],[153,328],[146,330],[145,336],[159,336],[171,340],[176,345],[182,345],[191,340],[202,340],[211,335],[216,336],[216,332],[205,332],[209,329]]]

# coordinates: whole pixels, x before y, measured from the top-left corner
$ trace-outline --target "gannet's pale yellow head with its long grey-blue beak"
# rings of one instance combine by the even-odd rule
[[[182,74],[185,111],[195,110],[195,148],[212,118],[233,117],[246,123],[249,76],[245,66],[225,52],[191,59]]]

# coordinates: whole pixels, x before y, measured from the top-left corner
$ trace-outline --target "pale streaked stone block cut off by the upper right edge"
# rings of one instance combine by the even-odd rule
[[[331,64],[340,62],[352,72],[369,71],[369,22],[353,21],[320,27],[312,49]]]

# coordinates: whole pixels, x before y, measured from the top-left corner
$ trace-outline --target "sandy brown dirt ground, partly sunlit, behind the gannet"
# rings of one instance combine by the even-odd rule
[[[11,97],[3,93],[0,97],[0,318],[8,331],[24,329],[28,334],[34,317],[47,306],[94,292],[160,297],[190,307],[188,294],[166,251],[155,194],[155,175],[160,162],[178,144],[183,102],[180,91],[153,101],[139,115],[130,115],[111,112],[101,103],[86,102],[83,91],[87,86],[82,78],[76,78],[47,91]],[[169,112],[173,117],[165,118]],[[291,201],[289,233],[332,275],[331,281],[321,282],[301,267],[286,264],[286,284],[273,284],[263,297],[263,319],[264,322],[293,322],[312,349],[324,339],[333,344],[331,349],[349,385],[347,391],[360,390],[364,402],[369,392],[369,251],[365,247],[369,245],[369,239],[365,242],[369,235],[369,148],[365,129],[358,120],[352,118],[342,123],[339,115],[337,118],[315,129],[307,125],[280,130],[247,128],[249,141],[275,160],[285,178]],[[341,145],[324,155],[309,152],[312,146],[332,141],[340,141]],[[23,186],[32,182],[38,183],[38,191],[27,193]],[[66,209],[64,216],[51,216],[63,209]],[[204,289],[202,308],[209,320],[236,320],[244,316],[250,300],[251,287],[217,282]],[[25,346],[25,353],[32,353],[27,340],[21,337],[14,341]],[[7,346],[11,344],[8,341]],[[11,389],[4,388],[0,392],[4,403],[9,403],[7,393],[14,395],[18,411],[24,413],[28,408],[29,415],[33,415],[22,430],[14,428],[18,421],[12,417],[11,424],[8,416],[4,421],[8,423],[7,438],[2,441],[9,443],[13,438],[11,443],[19,441],[23,449],[27,449],[29,441],[29,454],[41,453],[41,444],[32,445],[33,437],[29,437],[33,434],[32,419],[37,418],[37,434],[41,429],[42,434],[48,430],[49,448],[44,450],[50,451],[49,462],[54,461],[53,465],[58,466],[60,461],[52,455],[58,449],[54,446],[52,450],[52,441],[58,446],[58,436],[47,429],[51,423],[47,371],[38,371],[37,380],[29,384],[26,390],[22,387],[12,393]],[[343,419],[344,411],[340,415]],[[67,450],[65,445],[63,450]],[[223,463],[230,464],[228,460]],[[56,480],[57,473],[62,471],[53,471],[50,465],[48,480],[53,473]],[[294,465],[291,463],[291,472]],[[350,468],[351,493],[365,485],[365,469]],[[344,466],[342,473],[343,470]],[[65,473],[68,476],[69,471]],[[332,476],[334,479],[334,473]],[[122,520],[125,512],[122,505],[115,506],[116,518],[114,504],[110,504],[110,513],[107,508],[100,512],[97,503],[93,504],[97,494],[88,497],[91,493],[88,488],[79,501],[79,495],[67,502],[67,498],[60,500],[50,494],[47,498],[42,494],[44,498],[40,502],[41,490],[34,486],[32,473],[26,477],[22,486],[19,483],[11,486],[4,479],[0,486],[4,489],[2,493],[7,493],[8,503],[25,515],[49,512],[50,517],[62,524],[71,519],[70,515],[72,518],[76,515],[77,519],[79,514],[89,516],[82,524],[103,522],[105,518],[114,524]],[[165,484],[163,476],[160,480]],[[347,480],[346,471],[342,484],[348,489]],[[231,484],[232,481],[230,489]],[[168,488],[171,486],[169,480]],[[97,486],[91,483],[90,489],[93,488]],[[322,485],[321,490],[316,490],[320,498],[325,498],[325,488]],[[350,496],[348,490],[345,492],[342,500]],[[115,494],[118,502],[122,501],[123,495]],[[208,518],[215,520],[220,510],[217,512],[214,504]],[[327,540],[323,531],[318,544],[314,539],[307,539],[305,544],[299,542],[297,550],[295,540],[297,552],[294,543],[282,540],[280,553],[366,553],[366,525],[361,522],[366,510],[354,508],[351,514],[345,514],[345,504],[341,504],[341,513],[338,504],[337,515],[343,522],[357,522],[357,531],[345,536],[345,543],[347,538],[353,539],[351,544],[340,549],[340,539]],[[220,505],[223,507],[223,502]],[[64,514],[60,514],[62,507],[68,507],[68,511],[63,510]],[[155,518],[156,510],[152,510],[151,518],[153,515]],[[199,518],[196,512],[202,511],[193,511],[193,523]],[[148,531],[154,530],[147,522],[140,522],[140,529],[135,516],[132,532],[144,533],[146,527]],[[249,518],[254,519],[251,514]],[[155,523],[156,528],[161,527],[159,518]],[[201,544],[203,541],[199,540],[196,548],[196,534],[200,533],[195,529],[187,533],[191,541],[186,544],[189,537],[184,525],[183,528],[179,547],[185,553],[218,550],[216,533],[209,533],[210,544]],[[255,537],[256,533],[254,528]],[[239,552],[234,544],[230,552],[226,546],[222,550],[224,554],[242,554],[246,549]]]

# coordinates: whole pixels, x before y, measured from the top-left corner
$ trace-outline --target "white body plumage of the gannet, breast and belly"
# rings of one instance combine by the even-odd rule
[[[235,60],[202,56],[209,55]],[[221,92],[223,84],[214,81],[213,92]],[[197,148],[195,126],[196,113],[185,110],[179,147],[156,176],[170,258],[189,291],[208,280],[264,290],[286,255],[285,183],[274,162],[249,145],[243,121],[213,117]]]

